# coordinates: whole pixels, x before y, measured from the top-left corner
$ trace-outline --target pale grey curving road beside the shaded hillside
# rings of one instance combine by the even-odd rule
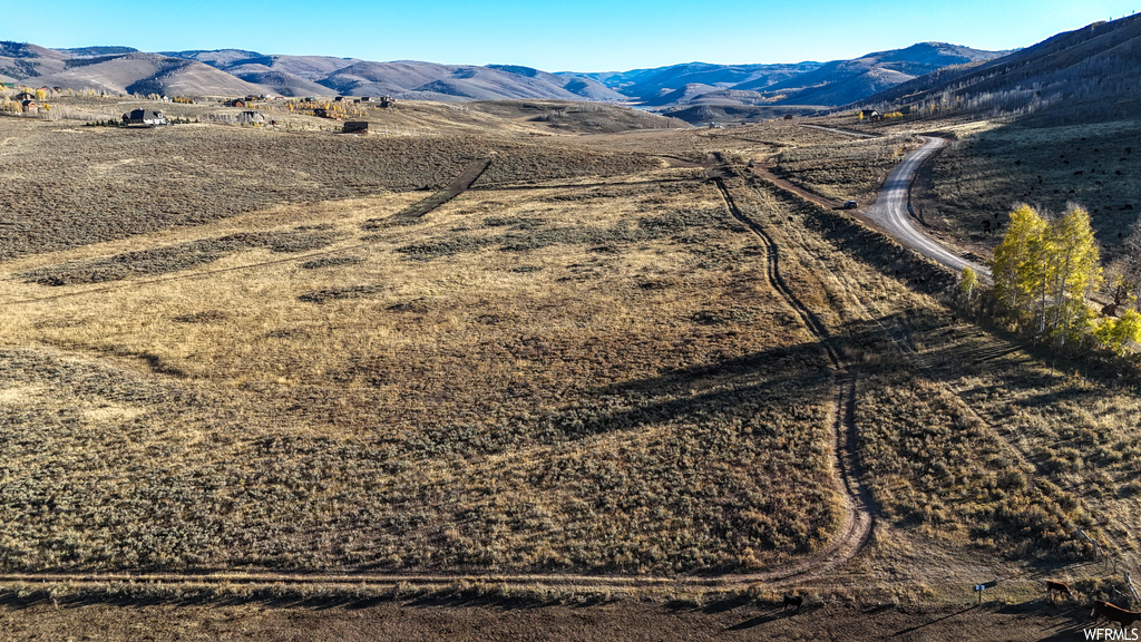
[[[923,256],[939,262],[955,272],[962,272],[963,267],[969,266],[982,279],[989,280],[990,270],[987,266],[965,259],[928,236],[915,227],[915,222],[912,220],[907,211],[907,188],[915,178],[920,164],[947,144],[942,138],[924,136],[923,139],[926,141],[926,144],[904,157],[904,162],[888,176],[888,180],[880,192],[880,198],[872,207],[867,208],[866,216],[900,243]]]

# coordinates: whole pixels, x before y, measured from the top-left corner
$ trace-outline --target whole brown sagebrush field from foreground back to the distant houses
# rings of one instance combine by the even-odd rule
[[[0,627],[82,636],[145,607],[202,623],[185,639],[357,617],[349,639],[484,618],[585,639],[583,617],[626,639],[1066,639],[1079,615],[1044,578],[1085,600],[1138,568],[1135,383],[958,319],[954,275],[744,168],[866,201],[909,136],[413,115],[438,127],[0,119],[0,154],[59,168],[5,163],[0,193]],[[487,159],[453,200],[420,190]],[[874,525],[825,563],[841,467]],[[16,579],[44,572],[170,579]],[[187,577],[208,572],[342,579]],[[440,586],[365,586],[395,576]],[[788,588],[816,624],[777,617]]]

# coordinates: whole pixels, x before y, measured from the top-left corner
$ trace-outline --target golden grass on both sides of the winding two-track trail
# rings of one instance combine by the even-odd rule
[[[824,191],[871,188],[896,143],[776,123],[589,144],[840,154],[806,183]],[[703,170],[656,164],[503,178],[413,225],[386,220],[428,193],[379,192],[5,260],[0,564],[669,575],[819,549],[840,515],[827,361]],[[1135,547],[1134,392],[998,354],[932,296],[936,268],[727,184],[859,377],[881,519],[832,581],[952,599],[947,572],[1081,559],[1076,527]],[[314,226],[317,249],[29,276]]]

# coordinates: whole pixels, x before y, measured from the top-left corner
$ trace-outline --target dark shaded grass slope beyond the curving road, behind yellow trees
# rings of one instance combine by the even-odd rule
[[[914,123],[883,125],[891,135]],[[1133,120],[1051,126],[1038,122],[950,122],[953,141],[928,163],[916,190],[916,215],[930,231],[988,255],[1019,202],[1050,212],[1083,204],[1103,256],[1112,258],[1141,216],[1141,135]]]

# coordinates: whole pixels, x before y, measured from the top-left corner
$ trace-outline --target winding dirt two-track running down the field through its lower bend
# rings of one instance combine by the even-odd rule
[[[833,481],[836,495],[843,503],[843,521],[841,527],[832,541],[819,553],[809,555],[785,568],[748,576],[753,581],[767,584],[806,580],[820,576],[852,559],[871,540],[873,527],[875,525],[875,520],[871,512],[871,495],[859,481],[856,462],[856,375],[833,345],[833,338],[827,327],[796,297],[793,289],[782,278],[780,249],[772,240],[772,236],[737,207],[733,193],[725,184],[725,179],[714,177],[712,180],[720,191],[729,214],[748,227],[764,247],[766,279],[769,286],[796,313],[804,328],[820,344],[820,350],[825,353],[835,374],[832,409],[832,431],[834,435],[832,450],[835,460],[835,476]]]

